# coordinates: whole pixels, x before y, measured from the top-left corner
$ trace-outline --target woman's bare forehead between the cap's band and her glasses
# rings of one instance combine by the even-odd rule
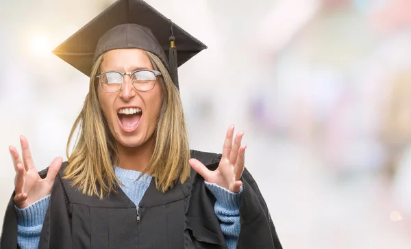
[[[141,49],[114,49],[103,55],[101,70],[131,72],[139,68],[153,69],[145,51]]]

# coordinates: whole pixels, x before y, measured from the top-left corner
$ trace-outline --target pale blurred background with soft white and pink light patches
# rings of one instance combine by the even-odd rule
[[[8,146],[66,159],[88,91],[51,51],[113,2],[0,0],[0,220]],[[411,1],[147,2],[208,45],[179,68],[191,147],[245,131],[284,248],[411,248]]]

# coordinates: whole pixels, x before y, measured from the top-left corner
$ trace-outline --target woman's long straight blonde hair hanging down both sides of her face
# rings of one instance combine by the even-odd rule
[[[146,54],[153,68],[162,73],[157,83],[160,83],[164,98],[153,133],[153,155],[143,173],[151,172],[157,189],[166,192],[178,182],[184,183],[188,179],[190,148],[179,92],[161,60],[153,53],[146,51]],[[99,198],[116,192],[116,187],[121,184],[113,167],[119,163],[115,140],[97,97],[99,82],[95,78],[102,61],[103,55],[99,56],[92,66],[89,92],[67,142],[69,165],[64,169],[64,178],[70,179],[73,187],[77,187],[83,194],[96,195]],[[69,155],[69,146],[77,126],[80,127],[79,137]]]

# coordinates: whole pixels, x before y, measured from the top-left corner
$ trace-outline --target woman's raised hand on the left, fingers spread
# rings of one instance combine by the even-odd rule
[[[14,179],[14,204],[18,208],[23,209],[51,194],[55,176],[57,176],[62,166],[63,159],[62,157],[56,157],[49,166],[47,177],[41,179],[36,168],[34,168],[29,143],[23,135],[20,136],[20,143],[23,161],[21,161],[16,148],[10,146],[9,150],[12,155],[14,170],[16,170],[16,177]]]

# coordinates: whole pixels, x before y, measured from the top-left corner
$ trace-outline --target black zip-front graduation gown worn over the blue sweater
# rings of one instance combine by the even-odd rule
[[[191,155],[211,170],[221,159],[219,154],[196,150]],[[120,188],[103,200],[82,194],[62,178],[62,169],[53,185],[39,248],[227,248],[214,213],[215,198],[194,170],[186,183],[165,194],[152,180],[137,211]],[[40,175],[46,173],[47,169]],[[266,203],[247,170],[242,183],[237,248],[282,248]],[[5,213],[1,249],[18,248],[13,197]]]

